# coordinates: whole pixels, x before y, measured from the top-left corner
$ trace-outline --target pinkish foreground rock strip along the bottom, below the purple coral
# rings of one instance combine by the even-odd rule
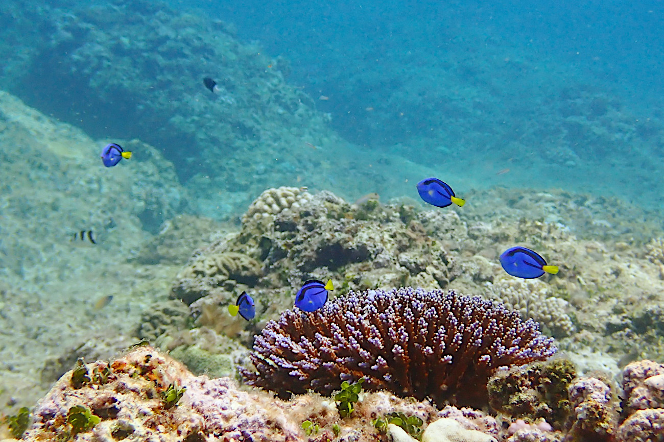
[[[499,396],[491,401],[497,409],[485,413],[452,405],[437,409],[429,402],[386,392],[360,392],[351,413],[342,414],[335,398],[309,393],[284,401],[246,390],[229,378],[194,376],[166,354],[139,346],[114,360],[79,363],[35,409],[25,411],[21,419],[11,417],[9,423],[11,433],[23,441],[377,442],[387,433],[399,442],[414,437],[429,442],[645,442],[661,437],[662,408],[649,407],[661,405],[661,386],[651,381],[661,376],[653,374],[659,370],[661,366],[650,361],[625,369],[623,404],[629,405],[623,407],[627,418],[620,421],[610,382],[577,377],[568,363],[555,361],[537,362],[523,372],[532,387],[549,389],[551,394],[540,396],[540,404],[567,404],[564,413],[546,419],[506,414]],[[527,374],[536,371],[548,374]],[[551,390],[546,378],[554,374],[558,382]],[[649,374],[653,376],[644,381]],[[515,376],[517,372],[508,378]],[[499,379],[491,382],[501,384],[507,378]],[[639,390],[641,386],[650,390]],[[527,413],[533,410],[523,407]]]

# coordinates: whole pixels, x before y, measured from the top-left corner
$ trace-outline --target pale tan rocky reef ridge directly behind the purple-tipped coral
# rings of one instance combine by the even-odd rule
[[[586,201],[589,214],[590,208],[604,210],[599,206],[581,197],[557,206],[537,203],[554,196],[527,194],[526,199],[533,209],[520,203],[517,216],[551,220],[514,218],[514,211],[491,215],[473,206],[421,210],[410,200],[380,204],[370,199],[358,206],[331,192],[266,190],[242,218],[239,232],[195,252],[171,296],[190,305],[199,326],[236,333],[249,343],[252,332],[293,305],[295,291],[307,279],[333,279],[338,288],[333,293],[408,285],[457,289],[501,301],[538,321],[563,350],[580,355],[576,362],[582,366],[616,373],[622,358],[664,356],[663,348],[653,345],[659,330],[657,293],[663,293],[664,284],[653,258],[655,243],[644,250],[645,238],[657,232],[654,226],[644,226],[641,233],[617,232],[613,242],[601,242],[587,238],[592,216],[584,216],[578,204]],[[614,206],[612,220],[618,225],[628,212],[623,215],[620,206],[606,202]],[[506,275],[497,257],[513,244],[539,250],[560,266],[560,273],[534,281]],[[254,322],[238,324],[223,314],[224,305],[241,291],[256,300]],[[639,304],[643,293],[652,299]],[[608,320],[600,321],[598,311]],[[634,342],[643,342],[641,354],[630,356]],[[592,361],[588,352],[614,354],[614,361],[606,356]]]

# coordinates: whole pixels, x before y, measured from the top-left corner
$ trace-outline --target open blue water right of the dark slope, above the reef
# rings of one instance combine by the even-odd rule
[[[661,1],[177,5],[284,56],[290,84],[365,149],[463,169],[471,187],[661,206]]]

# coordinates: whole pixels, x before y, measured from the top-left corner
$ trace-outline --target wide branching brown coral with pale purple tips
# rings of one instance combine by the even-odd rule
[[[501,366],[544,360],[553,340],[537,323],[481,297],[410,287],[350,292],[313,313],[286,311],[256,336],[249,384],[281,396],[330,394],[366,378],[367,390],[485,404]]]

